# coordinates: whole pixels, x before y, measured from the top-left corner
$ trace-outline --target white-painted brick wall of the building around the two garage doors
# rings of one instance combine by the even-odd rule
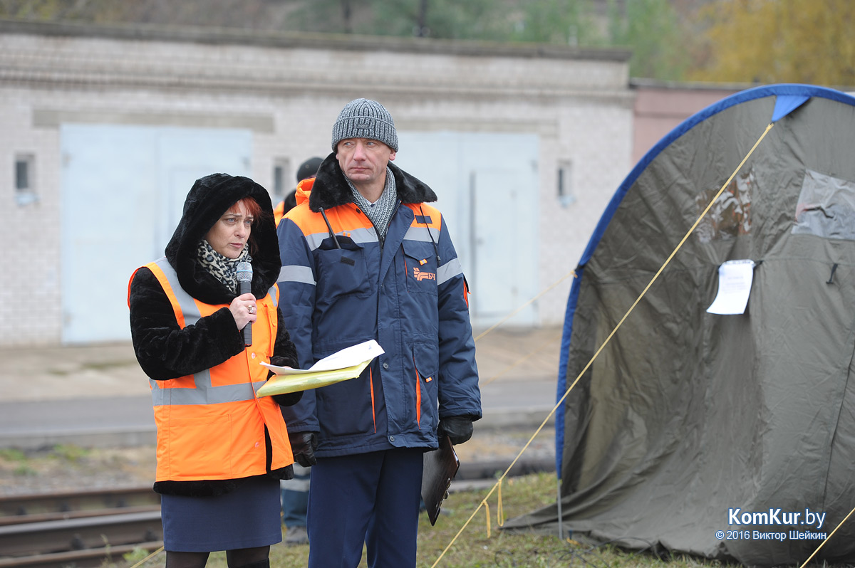
[[[38,29],[38,28],[37,28]],[[203,44],[141,38],[0,32],[0,345],[62,337],[62,196],[59,130],[34,126],[45,111],[66,117],[254,116],[252,176],[273,189],[274,161],[293,170],[330,152],[344,102],[374,97],[399,125],[435,123],[482,131],[540,132],[541,290],[575,267],[605,205],[631,164],[632,93],[620,57],[473,55]],[[377,70],[382,69],[382,73]],[[130,123],[130,122],[127,122]],[[399,126],[401,128],[402,126]],[[14,156],[36,156],[39,200],[15,202]],[[557,198],[559,161],[573,163],[577,201]],[[291,176],[292,176],[291,173]],[[286,190],[293,184],[285,180]],[[537,303],[544,325],[563,321],[570,280]]]

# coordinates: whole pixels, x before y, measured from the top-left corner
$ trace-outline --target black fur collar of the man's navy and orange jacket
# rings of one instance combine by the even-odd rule
[[[389,169],[395,176],[395,189],[402,203],[430,203],[436,201],[436,194],[421,180],[404,172],[400,167],[389,162]],[[315,213],[353,202],[351,186],[345,179],[345,174],[339,167],[335,152],[327,155],[321,162],[315,176],[315,184],[309,196],[309,208]]]

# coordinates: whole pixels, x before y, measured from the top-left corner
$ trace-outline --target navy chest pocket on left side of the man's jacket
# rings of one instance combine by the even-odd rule
[[[369,296],[371,283],[362,245],[350,237],[337,238],[340,249],[333,237],[327,237],[315,250],[317,296],[327,299],[349,294]]]

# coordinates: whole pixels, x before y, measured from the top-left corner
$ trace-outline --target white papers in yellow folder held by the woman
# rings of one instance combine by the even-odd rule
[[[380,343],[370,339],[328,355],[308,369],[262,363],[276,373],[276,377],[270,378],[263,384],[257,394],[259,396],[285,395],[298,390],[317,389],[327,384],[357,378],[365,367],[369,366],[371,360],[382,353],[385,351],[380,347]]]

